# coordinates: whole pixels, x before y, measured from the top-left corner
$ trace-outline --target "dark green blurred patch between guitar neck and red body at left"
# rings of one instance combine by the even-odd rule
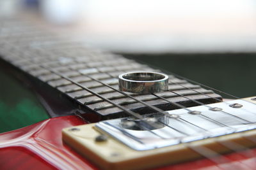
[[[12,131],[49,118],[35,94],[0,71],[0,132]]]

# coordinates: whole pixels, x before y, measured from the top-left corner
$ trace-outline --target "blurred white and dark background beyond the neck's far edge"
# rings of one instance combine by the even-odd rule
[[[60,34],[238,97],[255,96],[255,0],[1,0]],[[68,34],[67,34],[68,32]]]

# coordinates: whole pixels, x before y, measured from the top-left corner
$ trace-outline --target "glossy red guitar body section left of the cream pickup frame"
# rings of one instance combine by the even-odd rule
[[[58,117],[0,134],[0,169],[95,169],[61,139],[61,129],[81,124],[76,116]]]

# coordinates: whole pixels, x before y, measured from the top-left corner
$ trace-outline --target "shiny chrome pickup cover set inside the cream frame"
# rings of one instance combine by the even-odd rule
[[[232,104],[235,106],[231,107]],[[200,111],[200,114],[191,114],[188,110]],[[177,118],[164,116],[167,119],[166,125],[150,131],[145,131],[148,130],[147,128],[143,130],[123,128],[122,121],[125,118],[102,121],[95,127],[138,151],[256,128],[256,104],[245,99],[172,110],[166,113],[179,116]]]

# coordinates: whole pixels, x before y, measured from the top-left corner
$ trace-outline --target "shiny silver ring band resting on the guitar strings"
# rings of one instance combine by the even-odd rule
[[[168,90],[168,76],[154,72],[130,72],[119,75],[119,89],[124,92],[152,94]]]

